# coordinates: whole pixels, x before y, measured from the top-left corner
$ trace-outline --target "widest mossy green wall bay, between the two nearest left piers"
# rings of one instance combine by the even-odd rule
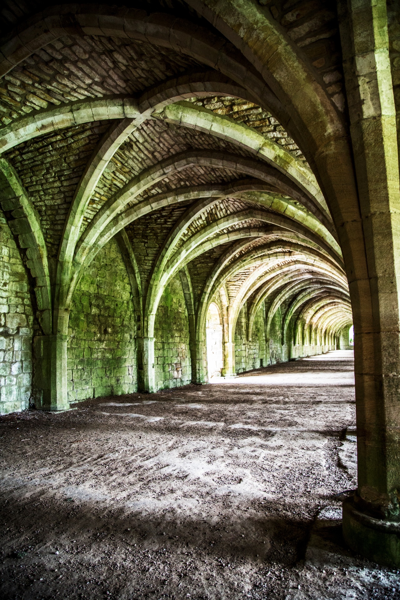
[[[70,403],[137,391],[136,318],[127,269],[114,239],[77,286],[68,335]]]

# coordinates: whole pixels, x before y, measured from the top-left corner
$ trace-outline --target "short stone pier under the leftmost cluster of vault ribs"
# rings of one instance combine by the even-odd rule
[[[38,335],[34,338],[35,405],[41,410],[70,408],[67,391],[68,335]]]

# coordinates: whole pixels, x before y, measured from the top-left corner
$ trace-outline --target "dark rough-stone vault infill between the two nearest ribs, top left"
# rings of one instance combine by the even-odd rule
[[[0,121],[84,98],[136,94],[197,62],[143,41],[97,35],[59,38],[26,58],[0,85]]]

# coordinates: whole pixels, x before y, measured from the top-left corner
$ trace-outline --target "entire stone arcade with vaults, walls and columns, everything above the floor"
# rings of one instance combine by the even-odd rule
[[[1,412],[330,350],[353,550],[400,565],[396,0],[5,0]]]

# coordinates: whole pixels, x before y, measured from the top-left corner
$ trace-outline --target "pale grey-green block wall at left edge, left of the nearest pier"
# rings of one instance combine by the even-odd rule
[[[0,413],[29,406],[33,316],[28,277],[0,211]]]

